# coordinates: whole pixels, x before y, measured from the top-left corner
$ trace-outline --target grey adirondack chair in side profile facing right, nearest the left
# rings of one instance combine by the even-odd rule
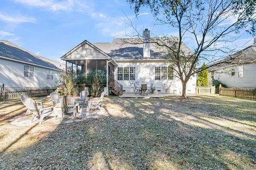
[[[24,101],[25,106],[29,109],[29,111],[33,114],[33,118],[31,122],[34,121],[35,117],[39,117],[39,124],[42,123],[44,117],[49,116],[50,114],[53,114],[53,106],[51,107],[45,107],[45,108],[38,108],[36,102],[31,98],[26,98]],[[55,118],[56,116],[53,115]]]

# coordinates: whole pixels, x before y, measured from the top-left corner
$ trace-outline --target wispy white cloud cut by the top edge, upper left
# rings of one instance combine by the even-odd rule
[[[90,6],[84,1],[79,0],[65,0],[65,1],[54,1],[54,0],[13,0],[16,3],[25,4],[28,6],[43,7],[50,11],[79,11],[84,12],[83,9],[90,9]]]

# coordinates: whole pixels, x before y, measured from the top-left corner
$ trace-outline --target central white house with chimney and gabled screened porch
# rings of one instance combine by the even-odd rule
[[[145,29],[144,39],[149,39],[149,35],[149,30]],[[123,85],[124,92],[133,92],[130,82],[139,81],[139,84],[147,84],[148,88],[153,83],[157,93],[165,93],[162,86],[165,80],[171,84],[167,93],[181,94],[181,81],[169,69],[166,54],[149,41],[127,44],[126,40],[135,42],[138,39],[122,38],[114,39],[112,43],[94,44],[85,40],[63,55],[61,60],[67,64],[72,63],[73,67],[76,65],[78,69],[74,70],[82,70],[86,74],[95,69],[105,71],[109,77]],[[190,51],[185,45],[182,48]],[[191,77],[187,83],[187,93],[194,93],[195,87],[196,77]]]

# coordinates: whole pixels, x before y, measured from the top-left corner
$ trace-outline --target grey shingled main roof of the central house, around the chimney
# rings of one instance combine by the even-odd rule
[[[160,38],[151,39],[160,40]],[[163,40],[174,41],[172,37],[161,39]],[[150,43],[150,57],[143,57],[143,43],[139,38],[116,38],[111,43],[94,43],[93,45],[115,60],[165,60],[169,58],[163,48],[159,49],[155,43]],[[187,53],[190,52],[185,44],[182,44],[182,49]]]

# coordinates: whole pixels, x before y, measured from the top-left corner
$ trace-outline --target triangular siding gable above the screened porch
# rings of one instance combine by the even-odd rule
[[[91,59],[106,59],[107,57],[99,52],[99,50],[84,44],[79,47],[75,52],[71,53],[65,60],[91,60]]]

